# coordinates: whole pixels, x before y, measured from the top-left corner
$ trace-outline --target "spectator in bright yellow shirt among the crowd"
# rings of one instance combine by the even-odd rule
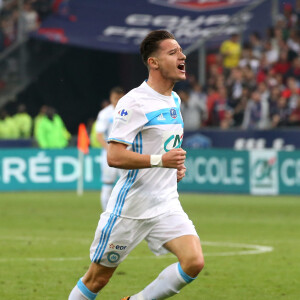
[[[238,66],[241,56],[240,36],[233,33],[230,39],[225,40],[220,47],[220,54],[223,57],[224,74],[228,75],[232,68]]]

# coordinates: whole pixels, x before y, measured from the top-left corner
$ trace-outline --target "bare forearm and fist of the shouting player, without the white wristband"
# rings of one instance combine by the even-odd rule
[[[139,154],[127,150],[127,145],[110,142],[107,151],[107,162],[110,167],[119,169],[145,169],[151,168],[149,154]],[[180,168],[185,161],[186,151],[181,148],[172,149],[162,155],[162,167]]]

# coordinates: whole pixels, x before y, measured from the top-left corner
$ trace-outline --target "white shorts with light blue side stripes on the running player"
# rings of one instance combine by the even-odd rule
[[[116,267],[144,239],[155,255],[161,255],[168,252],[163,247],[166,242],[183,235],[198,236],[184,211],[142,220],[104,212],[90,248],[90,258],[103,266]]]

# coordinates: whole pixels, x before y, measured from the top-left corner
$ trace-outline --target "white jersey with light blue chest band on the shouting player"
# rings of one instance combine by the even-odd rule
[[[175,92],[164,96],[143,82],[119,100],[108,142],[124,143],[141,154],[164,154],[180,148],[182,139],[180,98]],[[107,206],[115,216],[136,219],[181,210],[177,170],[167,168],[122,170]]]

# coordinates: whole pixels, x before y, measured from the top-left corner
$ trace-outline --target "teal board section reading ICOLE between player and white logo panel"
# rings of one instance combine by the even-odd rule
[[[249,153],[232,150],[188,150],[181,191],[249,193]]]

